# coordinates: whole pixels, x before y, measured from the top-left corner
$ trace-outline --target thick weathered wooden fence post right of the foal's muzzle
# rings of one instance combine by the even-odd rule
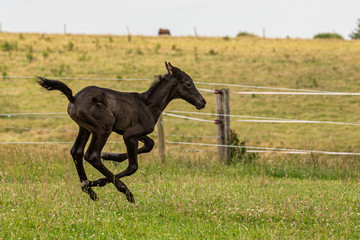
[[[230,145],[230,94],[229,88],[218,90],[216,96],[217,142],[218,145]],[[228,163],[231,158],[231,148],[218,146],[218,159]]]

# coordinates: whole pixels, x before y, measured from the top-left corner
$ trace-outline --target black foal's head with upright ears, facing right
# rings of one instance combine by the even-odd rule
[[[206,101],[196,89],[193,80],[179,68],[165,62],[170,80],[175,82],[175,98],[181,98],[194,105],[197,109],[205,107]]]

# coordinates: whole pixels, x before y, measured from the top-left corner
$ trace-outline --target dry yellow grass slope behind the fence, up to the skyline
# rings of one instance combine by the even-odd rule
[[[271,87],[360,92],[360,42],[253,38],[132,37],[44,34],[0,34],[3,75],[152,78],[165,73],[164,61],[189,73],[195,81]],[[27,55],[33,60],[29,61]],[[150,82],[65,80],[74,91],[99,85],[120,91],[145,91]],[[1,112],[64,112],[66,98],[38,91],[34,80],[2,79]],[[206,85],[198,85],[210,88]],[[231,90],[243,90],[232,88]],[[215,96],[204,93],[215,112]],[[306,120],[360,122],[359,97],[231,95],[231,113]],[[194,111],[176,100],[168,109]],[[210,118],[211,119],[211,118]],[[1,126],[76,129],[71,120],[1,119]],[[168,121],[168,134],[214,135],[211,124]],[[358,127],[232,123],[241,138],[258,146],[360,151]],[[2,130],[3,131],[3,130]],[[3,141],[71,140],[69,132],[3,131]]]

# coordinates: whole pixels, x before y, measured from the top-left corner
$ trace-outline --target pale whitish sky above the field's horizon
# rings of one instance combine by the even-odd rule
[[[360,18],[360,0],[0,0],[7,32],[230,36],[247,31],[270,38],[345,38]]]

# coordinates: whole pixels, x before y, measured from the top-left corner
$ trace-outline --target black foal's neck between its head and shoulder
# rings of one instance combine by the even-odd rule
[[[174,99],[174,87],[175,85],[172,84],[170,80],[160,80],[159,84],[146,100],[146,104],[150,108],[156,121],[169,102]]]

